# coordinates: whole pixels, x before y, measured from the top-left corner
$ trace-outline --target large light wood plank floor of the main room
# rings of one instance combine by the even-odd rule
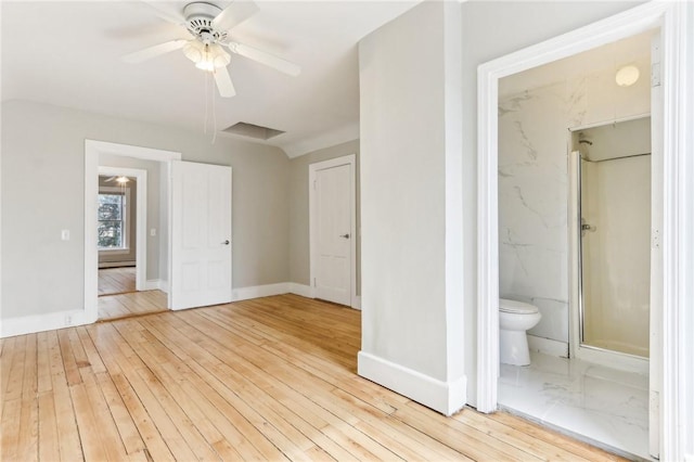
[[[295,295],[0,343],[7,461],[617,460],[356,375],[360,313]]]

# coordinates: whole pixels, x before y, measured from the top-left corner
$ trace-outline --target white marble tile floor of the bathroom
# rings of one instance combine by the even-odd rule
[[[499,406],[630,459],[648,455],[648,376],[531,354],[501,364]]]

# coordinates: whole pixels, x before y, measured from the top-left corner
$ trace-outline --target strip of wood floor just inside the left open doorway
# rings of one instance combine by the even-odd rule
[[[167,295],[162,291],[141,291],[99,297],[99,320],[107,321],[132,316],[166,311]]]

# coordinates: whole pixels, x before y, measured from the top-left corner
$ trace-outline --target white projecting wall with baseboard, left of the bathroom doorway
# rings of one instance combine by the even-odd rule
[[[465,400],[459,15],[425,2],[359,50],[359,373],[444,413]]]

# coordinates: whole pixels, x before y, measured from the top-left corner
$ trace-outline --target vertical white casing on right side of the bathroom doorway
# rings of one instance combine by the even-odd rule
[[[694,446],[694,3],[672,2],[666,10],[663,43],[660,460],[682,460]]]

